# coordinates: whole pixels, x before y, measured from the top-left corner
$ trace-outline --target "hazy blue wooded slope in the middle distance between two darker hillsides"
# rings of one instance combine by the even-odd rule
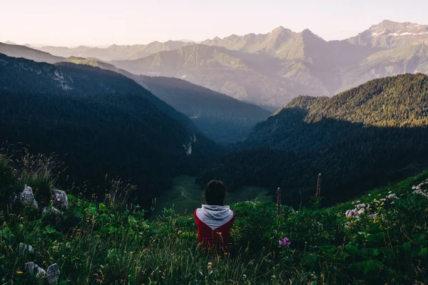
[[[178,78],[134,76],[133,79],[182,112],[208,138],[222,144],[243,140],[270,112]]]

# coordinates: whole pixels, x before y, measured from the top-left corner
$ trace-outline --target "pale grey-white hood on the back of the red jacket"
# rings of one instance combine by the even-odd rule
[[[233,218],[233,212],[229,206],[203,204],[196,209],[196,216],[211,229],[217,229]]]

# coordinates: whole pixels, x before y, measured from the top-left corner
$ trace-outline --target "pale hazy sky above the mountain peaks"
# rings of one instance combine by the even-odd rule
[[[0,0],[0,41],[104,46],[201,41],[277,26],[326,40],[384,19],[428,24],[428,0]]]

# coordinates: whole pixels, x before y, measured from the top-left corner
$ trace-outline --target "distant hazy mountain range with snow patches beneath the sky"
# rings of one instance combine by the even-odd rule
[[[388,20],[341,41],[325,41],[308,29],[297,33],[279,27],[201,43],[38,49],[111,61],[137,75],[181,78],[238,100],[273,106],[297,95],[335,95],[374,78],[428,73],[428,26]]]

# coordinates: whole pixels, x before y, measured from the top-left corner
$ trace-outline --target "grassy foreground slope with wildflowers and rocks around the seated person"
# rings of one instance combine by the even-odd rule
[[[198,249],[192,215],[148,220],[120,180],[103,202],[74,189],[64,202],[54,165],[0,155],[1,284],[428,282],[428,172],[329,208],[283,205],[277,216],[271,202],[233,204],[231,252],[213,257]]]

